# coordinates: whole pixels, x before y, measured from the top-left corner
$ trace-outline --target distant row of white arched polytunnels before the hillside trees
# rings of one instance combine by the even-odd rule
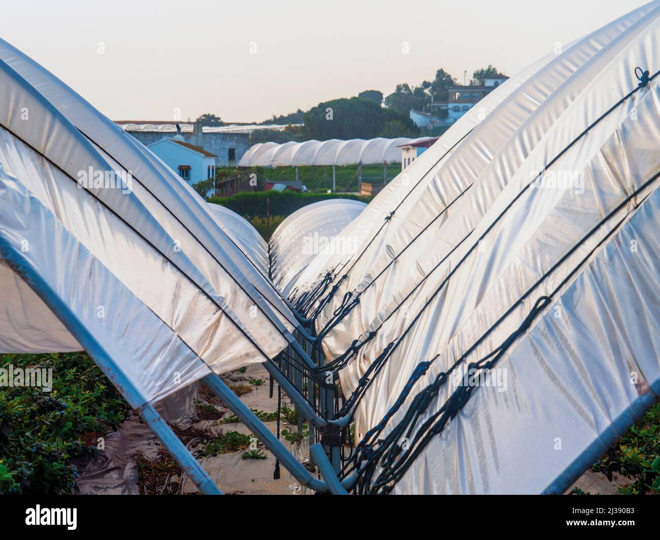
[[[340,141],[290,141],[277,143],[258,143],[249,148],[241,158],[240,167],[282,167],[306,165],[352,165],[362,163],[373,165],[401,162],[399,145],[406,145],[421,139],[399,137],[397,139],[350,139]]]

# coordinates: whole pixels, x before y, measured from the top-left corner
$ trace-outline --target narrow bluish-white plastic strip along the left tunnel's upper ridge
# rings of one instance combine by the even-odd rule
[[[263,317],[277,323],[279,332],[288,333],[296,327],[297,322],[281,294],[225,234],[191,186],[71,88],[2,40],[0,59],[38,88],[49,105],[75,125],[107,162],[131,172],[135,189],[143,186],[140,201],[178,241],[207,281],[220,287],[216,275],[229,277],[241,294],[249,296],[250,305],[258,306]]]

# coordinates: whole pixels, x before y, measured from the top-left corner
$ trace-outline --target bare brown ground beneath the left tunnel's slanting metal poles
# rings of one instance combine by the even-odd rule
[[[251,381],[263,380],[257,386]],[[250,409],[275,413],[277,411],[277,384],[273,399],[269,398],[269,377],[261,364],[248,366],[246,372],[227,374],[226,382],[251,388],[241,400]],[[244,389],[246,389],[244,388]],[[282,406],[292,408],[286,395],[282,394]],[[211,408],[213,407],[213,408]],[[160,405],[166,419],[174,422],[173,427],[184,444],[197,457],[211,479],[226,494],[304,494],[300,484],[280,467],[280,479],[273,479],[275,456],[263,444],[258,444],[265,459],[242,459],[247,449],[205,456],[205,446],[228,432],[251,435],[242,422],[225,422],[232,417],[218,399],[203,388],[189,389]],[[276,432],[277,422],[264,422]],[[286,428],[282,422],[282,428]],[[290,430],[296,428],[288,426]],[[309,456],[308,440],[300,444],[282,442],[305,462]],[[124,422],[117,432],[109,433],[104,440],[104,449],[98,456],[79,464],[81,476],[79,492],[83,494],[190,494],[197,487],[187,477],[181,477],[178,464],[166,452],[164,446],[140,421],[137,415]]]

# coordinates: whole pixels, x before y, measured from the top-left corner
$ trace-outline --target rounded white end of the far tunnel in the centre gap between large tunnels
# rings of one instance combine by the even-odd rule
[[[350,199],[330,199],[302,207],[279,224],[271,240],[271,277],[284,294],[312,262],[355,250],[358,239],[339,235],[366,207]]]

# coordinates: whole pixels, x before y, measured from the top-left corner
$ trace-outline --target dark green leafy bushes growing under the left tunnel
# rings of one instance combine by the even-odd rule
[[[129,405],[85,353],[6,354],[0,367],[52,368],[52,391],[0,390],[0,493],[70,494],[73,457],[96,454],[98,437],[117,430]]]

